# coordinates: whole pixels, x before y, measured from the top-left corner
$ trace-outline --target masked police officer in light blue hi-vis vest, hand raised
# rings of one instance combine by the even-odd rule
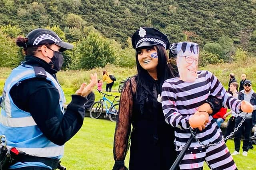
[[[20,151],[10,165],[15,170],[51,170],[60,168],[64,143],[81,128],[84,103],[97,83],[82,83],[63,109],[65,97],[56,73],[63,64],[62,51],[73,45],[63,42],[55,32],[32,30],[16,44],[23,47],[25,61],[13,69],[4,84],[1,100],[0,135],[6,137],[6,148]],[[18,154],[18,153],[17,153]]]

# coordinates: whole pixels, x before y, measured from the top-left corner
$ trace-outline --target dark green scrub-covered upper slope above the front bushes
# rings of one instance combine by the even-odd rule
[[[0,11],[0,25],[24,34],[59,25],[75,40],[83,26],[94,26],[123,45],[140,26],[164,31],[171,42],[188,36],[200,44],[222,35],[242,44],[256,30],[256,0],[2,0]]]

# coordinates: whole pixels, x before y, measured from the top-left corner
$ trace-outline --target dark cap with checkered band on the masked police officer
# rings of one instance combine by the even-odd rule
[[[28,47],[42,45],[46,43],[54,43],[61,47],[60,52],[67,49],[72,49],[74,47],[74,45],[62,41],[59,36],[52,30],[46,30],[42,28],[32,30],[30,33],[28,33],[26,38],[28,38],[28,42],[26,42],[26,45]]]

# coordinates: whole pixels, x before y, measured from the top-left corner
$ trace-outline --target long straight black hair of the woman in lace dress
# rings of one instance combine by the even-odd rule
[[[164,49],[164,47],[162,45],[154,45],[154,46],[149,46],[149,47],[142,47],[140,49],[145,49],[145,48],[154,48],[156,47],[157,50],[157,55],[158,55],[158,65],[156,67],[157,70],[157,79],[158,79],[158,89],[159,92],[162,92],[162,85],[164,83],[164,81],[168,78],[171,78],[173,76],[171,76],[171,71],[170,68],[167,65],[167,60],[168,60],[168,55],[166,53],[166,50]],[[148,92],[150,92],[149,88],[148,88],[148,77],[150,76],[148,74],[148,71],[146,71],[145,69],[143,69],[139,63],[138,60],[138,51],[140,51],[140,49],[136,49],[136,64],[137,64],[137,71],[138,71],[138,77],[137,77],[137,89],[136,91],[138,91],[139,88],[144,87],[144,89]],[[150,93],[151,94],[151,93]]]

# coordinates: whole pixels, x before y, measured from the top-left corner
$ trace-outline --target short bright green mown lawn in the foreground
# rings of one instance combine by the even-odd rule
[[[107,119],[84,119],[79,132],[65,144],[63,166],[68,170],[111,170],[113,159],[113,136],[115,123]],[[234,151],[234,141],[228,140],[228,148]],[[242,144],[241,144],[242,149]],[[248,156],[233,156],[239,170],[255,170],[256,148],[249,150]],[[126,156],[128,166],[129,153]],[[209,170],[206,163],[204,169]]]

